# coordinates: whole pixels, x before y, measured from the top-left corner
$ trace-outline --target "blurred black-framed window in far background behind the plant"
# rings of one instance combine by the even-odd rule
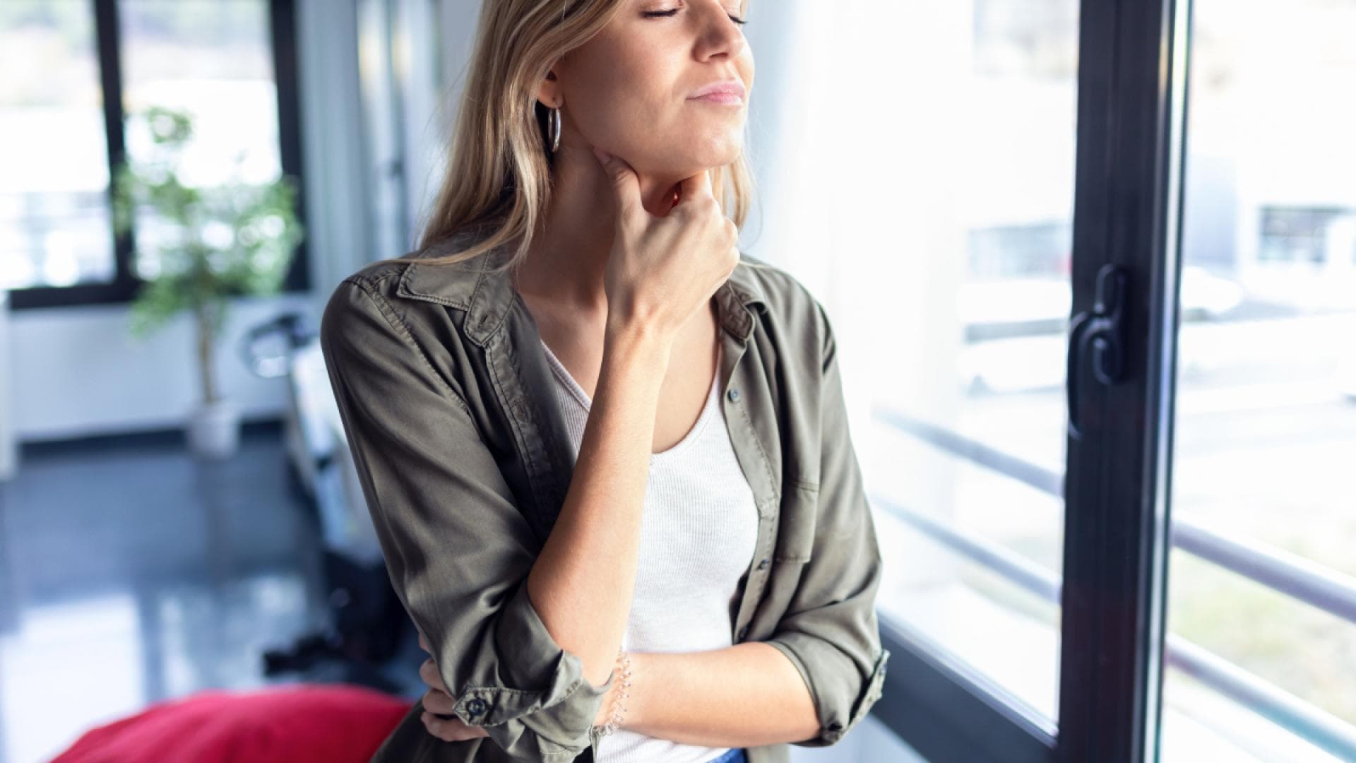
[[[292,0],[4,3],[4,71],[57,72],[0,84],[0,125],[20,136],[0,147],[18,168],[0,178],[0,286],[14,307],[126,303],[155,272],[134,238],[161,223],[138,215],[115,238],[108,198],[111,168],[145,151],[146,106],[195,115],[188,182],[300,176],[294,37]],[[287,291],[309,286],[305,259],[302,244]]]

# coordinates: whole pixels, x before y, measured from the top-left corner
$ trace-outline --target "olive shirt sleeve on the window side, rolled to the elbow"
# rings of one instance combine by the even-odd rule
[[[890,652],[881,648],[876,591],[881,558],[848,426],[837,342],[819,303],[822,354],[820,472],[814,547],[777,631],[766,639],[800,671],[819,715],[819,734],[800,747],[837,743],[880,698]]]

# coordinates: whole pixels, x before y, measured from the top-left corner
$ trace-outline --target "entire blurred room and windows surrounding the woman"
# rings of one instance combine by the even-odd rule
[[[315,339],[479,7],[0,0],[0,763],[424,691]],[[740,246],[833,319],[892,652],[792,760],[1356,760],[1356,0],[747,19]]]

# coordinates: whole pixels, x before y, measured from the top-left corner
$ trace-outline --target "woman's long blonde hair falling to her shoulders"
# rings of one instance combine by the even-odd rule
[[[537,100],[538,87],[551,65],[607,26],[624,1],[483,0],[442,186],[418,251],[462,231],[477,235],[446,257],[381,262],[452,265],[517,243],[502,269],[522,263],[551,202],[555,164],[546,145],[551,110]],[[740,12],[749,3],[740,1]],[[742,229],[754,197],[746,152],[711,172],[716,201]]]

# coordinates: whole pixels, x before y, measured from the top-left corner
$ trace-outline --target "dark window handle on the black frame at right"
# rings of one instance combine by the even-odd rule
[[[1069,436],[1083,436],[1078,424],[1078,371],[1083,358],[1092,360],[1093,376],[1104,386],[1116,384],[1125,375],[1125,272],[1116,265],[1102,265],[1097,272],[1097,301],[1092,312],[1079,312],[1069,327],[1069,369],[1064,387],[1069,394]],[[1089,356],[1088,348],[1092,346]]]

